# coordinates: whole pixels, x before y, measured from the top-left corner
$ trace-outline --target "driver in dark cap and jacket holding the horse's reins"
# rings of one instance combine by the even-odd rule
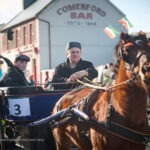
[[[67,83],[64,85],[54,85],[55,89],[69,89],[77,79],[87,77],[93,80],[98,76],[97,70],[90,61],[81,59],[81,44],[79,42],[69,42],[66,46],[67,60],[56,66],[52,83]]]

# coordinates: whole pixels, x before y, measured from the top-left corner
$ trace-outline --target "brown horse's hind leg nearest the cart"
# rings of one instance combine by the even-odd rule
[[[54,128],[53,135],[55,139],[57,150],[70,150],[73,145],[71,140],[67,137],[63,128]]]

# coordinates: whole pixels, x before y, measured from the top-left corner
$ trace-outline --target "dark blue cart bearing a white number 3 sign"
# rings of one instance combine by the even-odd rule
[[[35,143],[40,142],[40,140],[43,140],[40,138],[44,137],[44,135],[39,136],[37,132],[45,130],[45,127],[36,127],[37,129],[35,129],[30,127],[29,124],[50,116],[55,103],[64,93],[66,93],[66,90],[45,91],[40,86],[1,88],[1,149],[12,150],[13,148],[10,148],[8,145],[11,145],[12,141],[16,143],[19,140],[21,141],[19,143],[27,146],[27,148],[22,149],[34,149],[33,147],[36,147]],[[23,124],[26,124],[26,126],[23,126]],[[11,132],[12,135],[10,135]],[[18,140],[17,138],[20,136],[21,138]],[[51,142],[51,139],[49,141]],[[49,149],[51,148],[49,147]]]

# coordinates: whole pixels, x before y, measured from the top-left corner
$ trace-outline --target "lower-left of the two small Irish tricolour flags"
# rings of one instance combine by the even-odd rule
[[[107,26],[105,29],[104,29],[104,32],[111,38],[111,39],[114,39],[118,34],[119,32],[112,27],[112,25],[109,25]]]

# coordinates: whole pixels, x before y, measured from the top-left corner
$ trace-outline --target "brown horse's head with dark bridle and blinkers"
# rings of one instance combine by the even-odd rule
[[[116,65],[119,66],[121,60],[125,63],[125,68],[131,72],[131,76],[140,78],[146,89],[150,85],[150,41],[142,31],[138,35],[121,33],[120,41],[115,50]],[[128,73],[129,75],[129,73]]]

